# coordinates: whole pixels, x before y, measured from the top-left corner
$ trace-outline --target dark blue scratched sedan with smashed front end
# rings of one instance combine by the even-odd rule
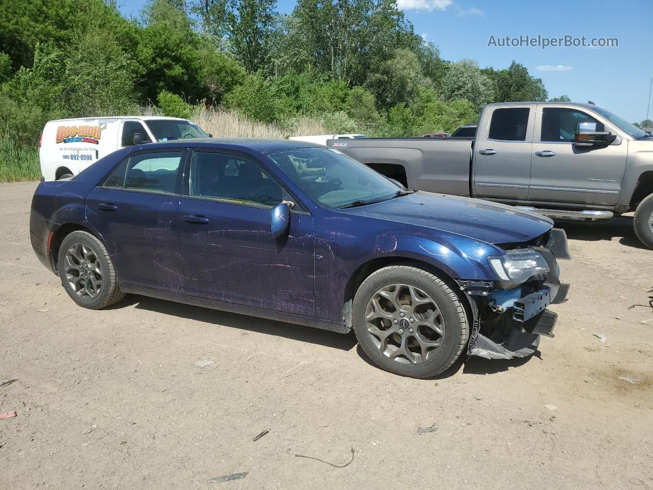
[[[288,140],[131,146],[42,182],[30,235],[73,301],[136,293],[347,333],[379,367],[533,353],[565,300],[564,232],[517,208],[403,188]]]

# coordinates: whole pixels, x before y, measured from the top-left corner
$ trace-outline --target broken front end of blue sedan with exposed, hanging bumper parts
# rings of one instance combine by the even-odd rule
[[[553,337],[553,328],[558,315],[547,306],[567,301],[569,284],[561,284],[558,278],[559,259],[569,259],[571,256],[567,250],[567,235],[562,229],[552,229],[549,242],[544,247],[535,247],[537,252],[545,257],[549,265],[549,272],[545,277],[541,289],[534,291],[514,302],[511,308],[503,314],[508,315],[512,328],[509,335],[498,343],[481,333],[483,309],[479,308],[475,297],[483,301],[488,293],[476,291],[474,284],[468,281],[461,281],[461,289],[466,289],[473,313],[473,329],[468,347],[469,355],[477,355],[486,359],[512,359],[513,357],[528,357],[532,355],[539,346],[539,338],[542,335]],[[471,287],[470,287],[471,286]]]

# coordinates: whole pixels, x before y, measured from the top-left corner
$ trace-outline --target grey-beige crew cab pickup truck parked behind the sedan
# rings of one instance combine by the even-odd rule
[[[591,104],[483,108],[475,137],[328,140],[409,188],[514,204],[560,220],[635,212],[653,248],[653,137]]]

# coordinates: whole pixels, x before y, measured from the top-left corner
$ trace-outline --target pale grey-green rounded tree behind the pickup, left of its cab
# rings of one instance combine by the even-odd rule
[[[492,100],[493,93],[492,80],[481,73],[474,59],[451,63],[442,80],[441,96],[445,101],[466,99],[476,112]]]

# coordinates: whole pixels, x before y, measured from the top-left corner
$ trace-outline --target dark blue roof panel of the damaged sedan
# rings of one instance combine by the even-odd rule
[[[159,141],[140,146],[144,148],[215,148],[217,150],[234,150],[240,152],[271,153],[295,148],[325,148],[320,144],[297,140],[263,139],[263,138],[194,138],[182,140]]]

